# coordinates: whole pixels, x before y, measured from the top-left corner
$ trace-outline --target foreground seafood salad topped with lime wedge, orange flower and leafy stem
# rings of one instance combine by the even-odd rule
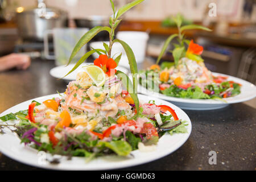
[[[27,110],[0,117],[0,133],[5,133],[8,127],[18,134],[21,143],[36,150],[68,157],[85,156],[87,161],[109,154],[127,156],[138,148],[150,150],[165,133],[187,133],[188,124],[179,119],[175,110],[156,105],[155,101],[139,101],[135,77],[131,82],[125,73],[115,69],[121,55],[114,59],[111,49],[113,43],[119,42],[129,58],[131,73],[138,72],[131,48],[113,37],[121,21],[119,16],[142,1],[133,1],[116,12],[110,0],[114,12],[110,27],[95,27],[82,36],[69,62],[100,31],[109,32],[110,44],[104,44],[105,50],[85,53],[69,73],[97,52],[99,57],[94,65],[84,67],[59,97],[42,103],[32,101]]]

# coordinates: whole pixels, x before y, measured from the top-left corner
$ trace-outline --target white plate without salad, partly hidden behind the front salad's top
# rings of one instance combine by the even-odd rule
[[[75,71],[73,71],[72,73],[70,73],[69,75],[65,76],[69,71],[71,71],[71,69],[75,66],[75,64],[69,64],[67,67],[66,65],[61,65],[59,67],[55,67],[52,68],[51,71],[49,72],[51,76],[55,77],[55,78],[62,78],[62,80],[64,81],[73,81],[76,80],[76,75],[78,72],[83,71],[82,67],[84,67],[85,65],[88,64],[93,64],[93,63],[82,63]],[[128,70],[126,68],[123,68],[121,66],[118,65],[118,67],[116,68],[119,71],[122,71],[124,73],[128,73]]]

